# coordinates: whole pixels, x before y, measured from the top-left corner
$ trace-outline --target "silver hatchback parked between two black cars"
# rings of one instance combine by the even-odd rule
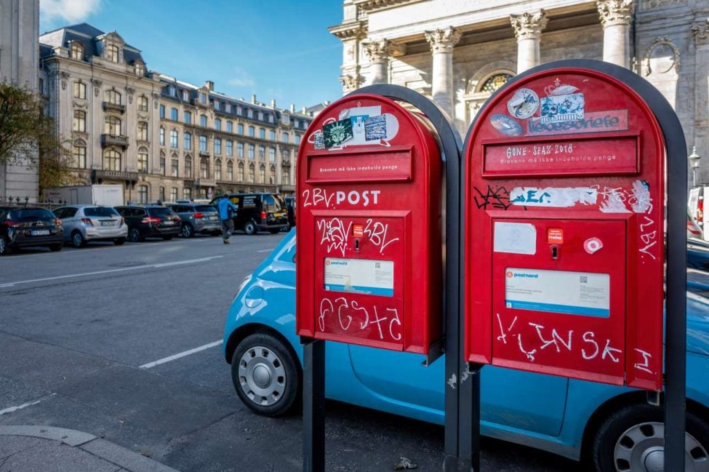
[[[115,209],[96,205],[68,205],[54,210],[64,226],[64,239],[74,248],[88,241],[113,241],[120,246],[128,236],[128,225]]]

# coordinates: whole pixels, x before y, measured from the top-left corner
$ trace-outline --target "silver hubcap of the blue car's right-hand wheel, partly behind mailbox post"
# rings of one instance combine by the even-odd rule
[[[686,433],[684,437],[686,472],[709,472],[705,447]],[[630,427],[620,435],[613,452],[619,472],[661,472],[664,470],[664,424],[646,422]]]

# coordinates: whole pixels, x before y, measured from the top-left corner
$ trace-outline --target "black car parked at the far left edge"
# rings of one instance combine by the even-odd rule
[[[48,209],[0,207],[0,255],[36,246],[61,251],[63,244],[62,221]]]

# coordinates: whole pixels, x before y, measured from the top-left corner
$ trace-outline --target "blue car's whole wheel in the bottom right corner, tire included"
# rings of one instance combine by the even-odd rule
[[[685,463],[688,471],[709,469],[709,423],[687,412]],[[661,407],[637,404],[610,415],[593,441],[593,466],[601,472],[661,471],[664,422]]]

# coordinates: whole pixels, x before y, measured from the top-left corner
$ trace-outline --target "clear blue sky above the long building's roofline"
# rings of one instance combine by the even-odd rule
[[[40,0],[40,34],[86,22],[116,30],[148,69],[280,108],[342,96],[340,0]]]

